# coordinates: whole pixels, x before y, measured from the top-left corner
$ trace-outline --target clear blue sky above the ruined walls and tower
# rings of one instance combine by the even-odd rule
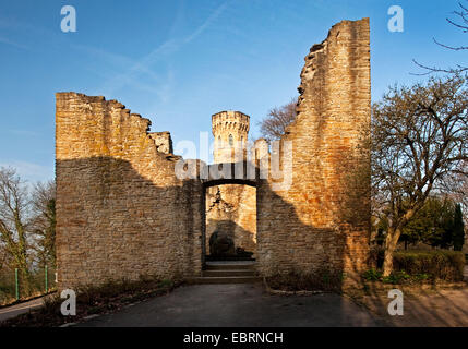
[[[403,33],[387,29],[394,4]],[[76,33],[60,29],[63,5],[76,9]],[[410,74],[412,59],[467,63],[432,41],[466,45],[445,22],[455,9],[453,0],[2,0],[0,166],[29,181],[53,178],[56,92],[118,99],[175,144],[197,144],[211,115],[228,109],[250,115],[259,136],[268,109],[297,96],[309,48],[341,20],[371,19],[377,100],[394,83],[425,79]]]

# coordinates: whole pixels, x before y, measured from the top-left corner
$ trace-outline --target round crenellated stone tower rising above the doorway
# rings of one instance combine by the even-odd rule
[[[245,158],[249,127],[250,117],[240,111],[220,111],[212,116],[215,163],[236,163]]]

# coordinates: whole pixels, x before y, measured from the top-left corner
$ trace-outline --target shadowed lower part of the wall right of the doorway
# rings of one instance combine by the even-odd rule
[[[267,183],[259,190],[257,207],[257,261],[262,275],[333,274],[343,276],[341,286],[358,285],[368,263],[365,225],[305,225],[295,206]]]

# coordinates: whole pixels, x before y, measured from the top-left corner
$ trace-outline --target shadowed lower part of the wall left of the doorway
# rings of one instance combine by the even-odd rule
[[[60,288],[201,273],[202,185],[111,157],[57,160],[56,173]]]

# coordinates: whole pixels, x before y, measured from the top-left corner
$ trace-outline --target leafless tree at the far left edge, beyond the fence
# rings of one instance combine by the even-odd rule
[[[29,287],[28,226],[29,197],[26,185],[14,169],[0,168],[0,240],[11,256],[21,281]]]

